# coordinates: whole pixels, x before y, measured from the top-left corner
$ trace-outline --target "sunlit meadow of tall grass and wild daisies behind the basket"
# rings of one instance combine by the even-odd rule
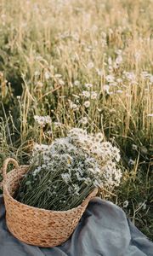
[[[71,127],[120,148],[122,184],[102,196],[153,239],[153,2],[0,1],[0,166]],[[40,128],[34,115],[52,119]]]

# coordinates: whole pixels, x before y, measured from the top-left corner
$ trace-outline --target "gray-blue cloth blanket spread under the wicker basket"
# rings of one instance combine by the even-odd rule
[[[12,236],[0,196],[0,256],[152,256],[150,242],[121,208],[96,197],[90,201],[71,238],[59,247],[29,246]]]

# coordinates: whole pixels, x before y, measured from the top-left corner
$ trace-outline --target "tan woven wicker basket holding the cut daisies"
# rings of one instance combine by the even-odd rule
[[[15,169],[7,173],[8,163]],[[14,192],[28,166],[19,166],[16,160],[8,158],[3,163],[3,197],[6,207],[8,230],[20,241],[39,247],[54,247],[66,241],[77,227],[88,202],[98,189],[88,195],[85,201],[68,211],[49,211],[30,207],[14,200]]]

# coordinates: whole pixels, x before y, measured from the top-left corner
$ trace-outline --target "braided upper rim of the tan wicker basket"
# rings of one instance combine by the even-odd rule
[[[22,165],[22,166],[20,166],[19,168],[28,168],[28,167],[29,167],[29,166],[27,166],[27,165]],[[14,169],[11,170],[10,172],[13,172],[14,170],[16,170],[16,169],[14,168]],[[10,173],[10,172],[8,172],[8,173]],[[32,210],[35,210],[35,211],[37,210],[38,212],[48,212],[48,213],[49,213],[49,212],[53,212],[53,213],[55,213],[55,212],[56,212],[56,213],[62,212],[62,213],[68,213],[68,212],[77,210],[77,209],[79,209],[79,208],[85,207],[86,204],[88,204],[88,201],[90,201],[90,198],[93,199],[93,197],[94,197],[95,195],[97,195],[98,190],[99,190],[98,188],[94,188],[93,191],[91,191],[91,193],[88,194],[88,196],[84,199],[84,201],[82,201],[82,203],[81,203],[79,206],[73,207],[73,208],[71,208],[71,209],[69,209],[69,210],[66,210],[66,211],[47,210],[47,209],[38,208],[38,207],[31,207],[31,206],[29,206],[29,205],[26,205],[26,204],[24,204],[24,203],[21,203],[20,201],[17,201],[16,199],[14,199],[14,197],[13,197],[12,195],[10,195],[6,183],[3,183],[3,198],[4,198],[4,200],[5,200],[5,193],[6,193],[6,194],[8,195],[8,197],[9,197],[12,201],[14,201],[14,203],[17,203],[17,204],[19,204],[19,205],[22,206],[22,207],[30,207]],[[86,201],[87,201],[87,203],[86,203]]]

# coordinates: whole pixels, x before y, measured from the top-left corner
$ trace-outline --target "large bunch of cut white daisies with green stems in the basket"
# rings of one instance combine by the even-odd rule
[[[15,199],[32,207],[65,211],[77,207],[95,187],[117,186],[119,150],[101,133],[73,128],[51,145],[35,144],[29,172]]]

